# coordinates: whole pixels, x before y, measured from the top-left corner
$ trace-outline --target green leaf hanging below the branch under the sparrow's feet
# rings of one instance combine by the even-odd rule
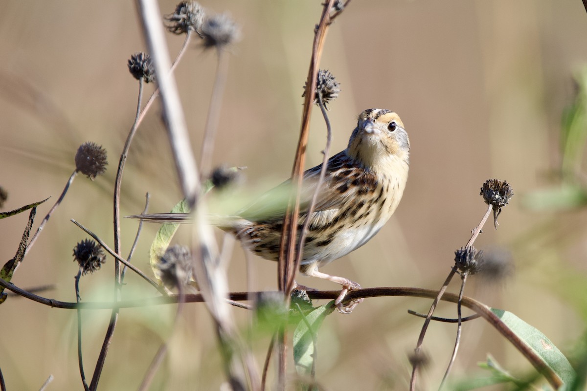
[[[307,376],[312,373],[314,367],[315,343],[318,337],[318,329],[322,321],[334,311],[334,301],[330,301],[321,307],[316,307],[302,319],[294,331],[294,362],[299,375]],[[308,328],[308,325],[311,327]]]

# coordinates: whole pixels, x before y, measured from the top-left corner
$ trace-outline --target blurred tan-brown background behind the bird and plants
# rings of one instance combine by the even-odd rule
[[[161,12],[174,1],[161,1]],[[230,12],[242,40],[230,57],[214,164],[247,166],[242,192],[261,192],[291,172],[319,1],[203,1],[210,11]],[[167,35],[174,57],[183,37]],[[200,152],[215,73],[215,53],[197,40],[176,77],[192,144]],[[544,332],[565,353],[585,328],[586,212],[534,212],[524,195],[552,184],[558,168],[561,113],[573,98],[572,76],[587,62],[587,14],[578,0],[359,1],[329,31],[321,67],[342,93],[330,104],[332,151],[346,147],[356,115],[365,108],[400,114],[411,140],[411,168],[393,219],[369,244],[324,268],[363,287],[438,288],[485,205],[478,195],[488,178],[507,179],[515,196],[477,240],[481,248],[512,253],[513,278],[492,287],[471,284],[467,294],[504,308]],[[23,288],[55,284],[46,297],[75,301],[72,249],[85,239],[74,218],[112,244],[112,189],[117,161],[136,110],[137,81],[126,61],[144,50],[133,2],[4,1],[0,4],[0,186],[9,192],[2,210],[52,196],[39,208],[35,227],[73,171],[76,148],[102,144],[110,165],[90,182],[79,176],[35,247],[15,273]],[[147,93],[153,86],[146,88]],[[313,113],[308,166],[318,164],[325,127]],[[584,171],[583,171],[584,172]],[[239,190],[241,191],[241,190]],[[144,193],[151,212],[180,199],[158,106],[131,147],[123,178],[122,214],[139,213]],[[0,260],[14,256],[23,213],[0,222]],[[123,221],[123,252],[136,232]],[[157,226],[143,230],[133,258],[150,272],[147,251]],[[219,237],[220,234],[219,234]],[[181,235],[180,235],[181,238]],[[275,264],[254,258],[254,290],[276,288]],[[231,290],[245,290],[244,256],[235,247]],[[113,261],[82,279],[82,299],[109,300]],[[572,279],[571,279],[572,278]],[[333,284],[299,278],[302,284]],[[124,297],[154,295],[132,273]],[[578,287],[578,288],[575,288]],[[583,287],[583,288],[581,288]],[[451,290],[458,289],[458,281]],[[328,389],[406,389],[406,355],[416,344],[427,300],[367,300],[352,315],[333,314],[319,334],[317,378]],[[153,389],[218,389],[224,381],[207,312],[190,305],[181,331]],[[174,308],[123,310],[100,389],[136,389]],[[234,310],[242,330],[244,310]],[[456,310],[443,305],[440,314]],[[0,368],[8,389],[79,389],[75,312],[11,297],[0,307]],[[85,312],[86,376],[106,330],[109,311]],[[454,325],[433,324],[424,346],[431,365],[420,378],[436,389],[454,343]],[[253,347],[262,363],[268,338]],[[483,321],[464,325],[453,379],[484,375],[477,368],[490,352],[513,373],[529,364]],[[293,367],[290,366],[293,370]]]

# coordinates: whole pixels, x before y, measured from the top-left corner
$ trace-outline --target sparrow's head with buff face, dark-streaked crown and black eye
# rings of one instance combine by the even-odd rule
[[[370,108],[359,114],[347,154],[366,168],[409,162],[410,140],[400,117],[390,110]]]

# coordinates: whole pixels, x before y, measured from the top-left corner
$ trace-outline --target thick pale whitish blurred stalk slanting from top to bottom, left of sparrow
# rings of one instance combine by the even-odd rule
[[[180,180],[181,189],[188,201],[188,205],[195,210],[194,223],[194,271],[202,294],[206,299],[208,311],[214,319],[217,329],[218,342],[221,345],[222,352],[230,353],[224,356],[225,369],[227,378],[231,381],[239,382],[242,385],[247,384],[244,376],[239,373],[238,366],[235,363],[235,356],[242,353],[242,345],[237,342],[234,327],[232,327],[232,318],[225,304],[227,295],[227,282],[225,274],[221,273],[218,268],[212,268],[217,263],[217,247],[211,227],[205,224],[205,208],[202,202],[198,203],[198,208],[193,208],[196,203],[196,197],[200,193],[200,180],[198,178],[197,165],[194,155],[190,148],[190,139],[188,137],[187,125],[181,102],[177,91],[177,86],[173,74],[169,72],[170,60],[167,56],[167,43],[161,23],[161,13],[158,9],[156,0],[137,0],[137,11],[139,12],[141,26],[157,76],[157,84],[160,89],[161,108],[163,109],[163,118],[166,124],[168,138],[171,144],[176,169]],[[258,376],[255,369],[244,359],[245,369],[249,374],[251,386],[257,389]]]

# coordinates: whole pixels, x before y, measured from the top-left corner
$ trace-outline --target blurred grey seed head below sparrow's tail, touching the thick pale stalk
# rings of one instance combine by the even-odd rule
[[[157,268],[161,271],[161,281],[167,288],[177,287],[177,284],[187,285],[193,275],[190,250],[178,244],[168,247]]]

